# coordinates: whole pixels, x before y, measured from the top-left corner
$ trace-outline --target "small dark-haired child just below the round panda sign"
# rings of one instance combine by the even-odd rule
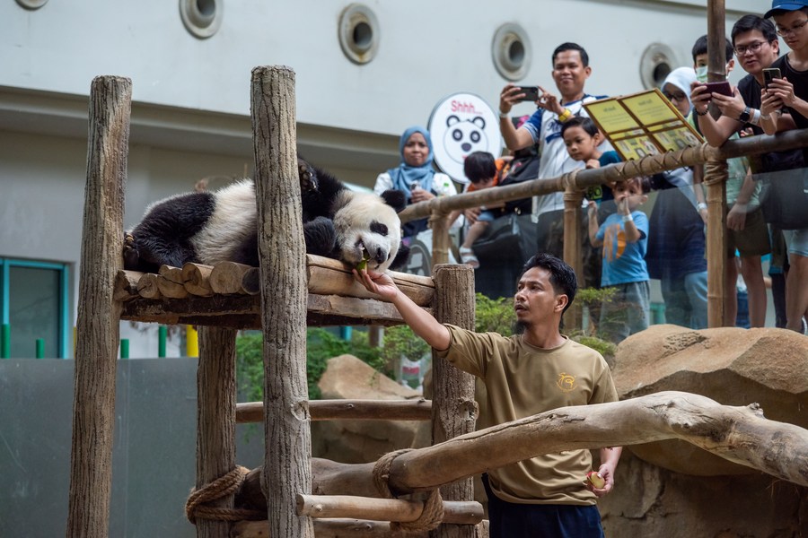
[[[499,183],[499,171],[496,168],[496,160],[494,156],[488,152],[471,152],[469,156],[466,157],[466,161],[463,162],[463,173],[471,182],[466,192],[496,187]],[[449,214],[449,221],[453,222],[461,213],[463,212],[460,210],[453,211]],[[482,206],[479,209],[468,210],[466,216],[471,224],[469,229],[466,230],[466,235],[460,247],[461,262],[477,269],[479,267],[479,259],[474,255],[474,250],[471,246],[486,230],[488,222],[495,219],[495,214],[491,211],[487,211],[486,206]]]

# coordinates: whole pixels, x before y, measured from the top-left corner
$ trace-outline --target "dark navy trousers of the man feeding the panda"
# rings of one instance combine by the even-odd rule
[[[603,538],[596,505],[516,504],[496,497],[482,475],[488,496],[490,538]]]

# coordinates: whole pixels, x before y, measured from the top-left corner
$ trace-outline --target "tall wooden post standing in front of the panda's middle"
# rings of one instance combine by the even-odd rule
[[[264,334],[262,488],[269,535],[313,538],[298,494],[312,492],[312,431],[306,381],[306,266],[297,176],[294,71],[252,70],[252,134],[258,204],[261,320]]]

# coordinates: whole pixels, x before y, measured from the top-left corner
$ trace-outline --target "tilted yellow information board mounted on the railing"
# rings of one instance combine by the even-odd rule
[[[584,107],[623,161],[702,143],[696,129],[656,88],[596,100]]]

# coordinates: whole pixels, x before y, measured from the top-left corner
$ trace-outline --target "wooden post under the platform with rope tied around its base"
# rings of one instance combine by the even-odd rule
[[[197,489],[235,468],[235,329],[199,328]],[[233,495],[208,507],[233,508]],[[197,518],[199,538],[228,538],[230,522]]]

